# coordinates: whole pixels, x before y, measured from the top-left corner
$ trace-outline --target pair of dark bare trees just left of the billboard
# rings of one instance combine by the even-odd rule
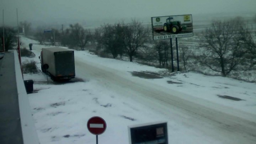
[[[113,58],[127,54],[130,62],[139,48],[145,47],[149,38],[149,29],[141,22],[133,20],[132,23],[119,22],[114,25],[105,24],[95,30],[95,39],[98,47],[111,53]]]

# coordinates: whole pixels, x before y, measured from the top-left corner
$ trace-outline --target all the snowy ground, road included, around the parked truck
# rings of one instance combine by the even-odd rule
[[[40,68],[41,48],[49,46],[22,40],[26,47],[33,43],[33,59]],[[25,76],[33,79],[34,88],[39,90],[29,97],[43,144],[95,143],[84,127],[90,116],[102,116],[107,121],[107,131],[101,136],[106,144],[126,144],[127,126],[154,121],[168,122],[169,143],[256,143],[255,84],[191,73],[142,79],[128,71],[161,69],[100,58],[86,51],[75,51],[75,62],[76,78],[84,82],[46,85],[46,76],[41,73]],[[167,84],[169,80],[180,84]],[[217,95],[243,100],[224,100]],[[56,103],[62,105],[51,106]],[[70,138],[64,137],[67,134]]]

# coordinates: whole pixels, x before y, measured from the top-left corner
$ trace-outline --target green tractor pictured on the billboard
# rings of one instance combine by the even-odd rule
[[[167,18],[166,23],[164,24],[164,31],[174,34],[179,33],[182,29],[184,30],[185,28],[186,27],[181,26],[181,21],[173,21],[173,17]]]

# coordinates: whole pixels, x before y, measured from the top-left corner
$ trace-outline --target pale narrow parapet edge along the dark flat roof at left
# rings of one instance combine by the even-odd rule
[[[18,102],[20,108],[20,118],[21,118],[21,129],[23,135],[24,144],[40,144],[38,135],[36,132],[36,127],[34,125],[34,119],[32,117],[30,103],[28,101],[26,88],[23,82],[20,63],[18,61],[18,54],[14,51],[15,60],[15,74],[16,74],[16,84],[18,92]]]

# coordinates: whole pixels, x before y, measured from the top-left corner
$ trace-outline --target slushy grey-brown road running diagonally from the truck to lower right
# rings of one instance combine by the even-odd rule
[[[256,117],[253,114],[166,89],[148,80],[131,79],[123,71],[97,63],[82,62],[80,59],[75,59],[75,62],[77,77],[97,80],[99,85],[222,143],[256,142]]]

